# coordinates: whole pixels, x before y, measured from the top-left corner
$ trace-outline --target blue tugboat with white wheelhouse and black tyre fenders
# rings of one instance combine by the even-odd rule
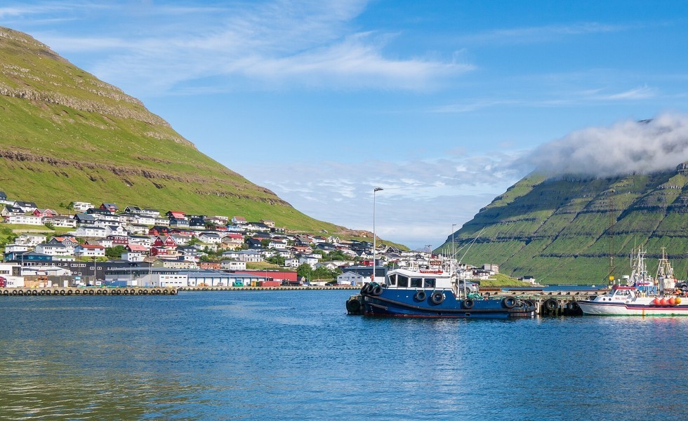
[[[349,314],[364,316],[509,319],[532,317],[535,306],[513,296],[483,299],[461,290],[456,276],[438,270],[394,269],[385,283],[366,283],[346,302]]]

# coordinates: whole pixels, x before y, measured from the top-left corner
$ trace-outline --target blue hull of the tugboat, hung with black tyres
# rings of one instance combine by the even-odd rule
[[[512,297],[503,300],[461,300],[450,290],[423,290],[425,298],[419,300],[418,291],[421,290],[385,288],[379,295],[364,294],[363,314],[434,319],[512,319],[535,315],[534,305]],[[433,295],[438,292],[442,294],[439,303],[439,300],[433,300]]]

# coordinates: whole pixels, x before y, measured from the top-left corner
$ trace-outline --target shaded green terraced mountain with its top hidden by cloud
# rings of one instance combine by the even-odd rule
[[[647,250],[650,272],[666,247],[675,275],[688,271],[688,166],[616,178],[531,174],[497,196],[454,233],[456,255],[497,263],[541,283],[603,283],[630,274],[630,253]],[[439,250],[449,252],[451,236]]]

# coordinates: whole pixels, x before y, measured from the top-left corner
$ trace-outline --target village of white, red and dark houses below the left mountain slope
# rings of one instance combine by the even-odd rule
[[[8,199],[4,192],[0,203],[6,224],[37,226],[15,229],[9,236],[0,287],[296,286],[326,281],[356,286],[373,279],[373,267],[374,280],[384,282],[388,267],[438,258],[430,250],[403,251],[383,243],[373,253],[369,241],[290,232],[272,220],[251,222],[238,215],[161,213],[81,201],[70,203],[73,215],[60,215],[33,202]],[[62,234],[51,235],[58,228]],[[497,265],[463,269],[470,279],[498,272]]]

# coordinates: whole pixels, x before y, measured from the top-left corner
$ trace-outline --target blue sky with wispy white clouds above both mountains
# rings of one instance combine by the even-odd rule
[[[315,218],[372,229],[383,187],[378,235],[418,248],[439,246],[549,142],[683,116],[687,12],[628,0],[3,0],[0,25]]]

